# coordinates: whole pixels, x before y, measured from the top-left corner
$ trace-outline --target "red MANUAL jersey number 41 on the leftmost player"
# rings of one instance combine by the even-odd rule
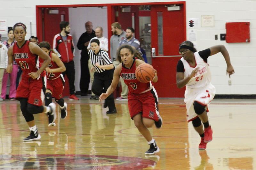
[[[20,65],[20,68],[23,71],[22,76],[29,78],[28,73],[36,72],[39,68],[39,62],[38,56],[30,52],[28,44],[29,41],[26,40],[21,48],[19,48],[17,42],[15,42],[13,45],[12,54],[15,58],[16,63]]]

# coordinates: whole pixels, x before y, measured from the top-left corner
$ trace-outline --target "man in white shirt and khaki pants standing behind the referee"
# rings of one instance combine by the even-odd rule
[[[97,26],[95,28],[95,35],[96,37],[93,37],[90,42],[93,40],[93,39],[98,39],[100,41],[100,49],[108,52],[108,39],[105,38],[103,36],[103,29],[102,27],[100,26]],[[91,43],[89,43],[88,47],[87,47],[87,50],[89,51],[91,49]],[[91,71],[91,68],[92,68],[92,63],[91,63],[91,59],[89,59],[89,64],[88,64],[88,67],[89,67],[89,70],[90,70],[90,77],[91,77],[91,83],[93,82],[93,79],[94,79],[94,72]],[[92,96],[90,97],[90,99],[95,99],[95,100],[98,100],[99,99],[99,96],[98,95],[93,95],[94,93],[92,92]]]

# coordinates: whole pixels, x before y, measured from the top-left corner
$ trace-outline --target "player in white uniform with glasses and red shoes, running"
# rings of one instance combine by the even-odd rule
[[[206,149],[206,144],[212,141],[212,128],[208,120],[208,107],[215,95],[215,87],[211,83],[211,72],[207,58],[221,52],[226,63],[227,73],[230,77],[235,73],[227,49],[223,45],[217,45],[196,52],[190,41],[180,44],[182,58],[177,64],[176,82],[178,88],[186,86],[185,99],[187,108],[187,120],[192,121],[196,132],[201,137],[199,150]],[[203,122],[203,125],[201,124]]]

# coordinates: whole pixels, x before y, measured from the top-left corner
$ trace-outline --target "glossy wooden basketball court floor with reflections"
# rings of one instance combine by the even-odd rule
[[[213,140],[198,150],[200,137],[186,122],[182,100],[160,99],[162,129],[151,128],[160,152],[145,156],[148,144],[130,119],[125,102],[106,115],[86,97],[68,103],[68,117],[48,127],[36,115],[40,141],[23,142],[29,130],[17,101],[0,103],[0,169],[255,169],[254,100],[213,100]],[[59,109],[57,109],[59,112]],[[59,114],[59,113],[58,113]],[[241,123],[243,122],[243,123]],[[242,125],[243,124],[243,125]]]

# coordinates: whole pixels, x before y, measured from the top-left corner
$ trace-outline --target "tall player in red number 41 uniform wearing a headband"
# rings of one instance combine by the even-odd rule
[[[33,114],[46,113],[49,117],[49,122],[54,122],[56,119],[56,105],[51,103],[49,106],[42,106],[41,89],[42,79],[40,74],[51,63],[51,58],[36,44],[25,40],[27,27],[25,24],[16,23],[13,26],[14,37],[17,42],[8,49],[8,65],[6,71],[12,72],[12,61],[20,65],[23,71],[20,84],[16,92],[16,99],[20,100],[20,110],[28,123],[30,135],[23,139],[23,141],[39,140],[40,134],[35,125]],[[38,69],[38,56],[40,56],[44,63]]]

